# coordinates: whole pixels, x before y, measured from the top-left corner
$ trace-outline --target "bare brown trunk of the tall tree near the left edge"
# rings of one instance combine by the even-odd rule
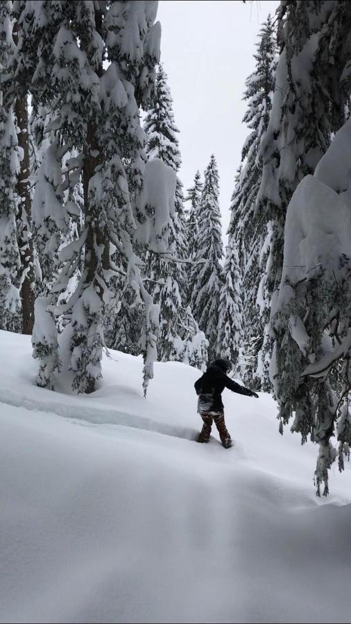
[[[13,27],[13,40],[18,43],[19,24]],[[28,139],[28,103],[27,94],[19,94],[15,103],[15,115],[18,126],[18,145],[22,149],[23,159],[17,177],[19,196],[17,214],[17,243],[21,259],[21,272],[24,275],[21,288],[22,333],[31,334],[34,324],[35,275],[33,261],[33,239],[31,235],[31,191],[29,184],[29,139]]]

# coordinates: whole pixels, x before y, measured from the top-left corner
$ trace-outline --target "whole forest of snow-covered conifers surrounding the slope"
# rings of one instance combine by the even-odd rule
[[[223,250],[211,146],[183,188],[157,2],[0,1],[0,328],[32,336],[38,385],[93,392],[108,348],[142,354],[145,394],[157,359],[227,358],[319,444],[327,494],[351,444],[350,33],[348,0],[262,24]]]

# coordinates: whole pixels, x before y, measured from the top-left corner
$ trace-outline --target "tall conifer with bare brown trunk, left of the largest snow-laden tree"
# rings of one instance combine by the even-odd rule
[[[33,141],[31,141],[30,146],[28,88],[30,76],[37,63],[37,46],[46,28],[47,15],[44,6],[40,6],[39,10],[39,6],[35,2],[15,0],[13,3],[8,3],[8,6],[10,7],[12,26],[12,53],[8,56],[6,67],[1,72],[1,83],[4,104],[7,109],[12,107],[15,113],[19,144],[16,234],[21,263],[19,286],[22,304],[21,315],[12,315],[12,328],[15,331],[31,333],[34,321],[35,283],[37,279],[40,279],[41,271],[33,245],[31,223],[31,200],[33,197],[31,173],[37,155],[33,150]],[[34,20],[35,28],[33,28]]]

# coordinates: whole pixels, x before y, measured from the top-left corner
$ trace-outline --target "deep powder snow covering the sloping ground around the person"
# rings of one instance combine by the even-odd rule
[[[28,337],[0,353],[1,622],[350,622],[350,465],[316,499],[271,397],[225,390],[225,450],[194,442],[194,368],[157,364],[144,399],[111,352],[74,396],[35,386]]]

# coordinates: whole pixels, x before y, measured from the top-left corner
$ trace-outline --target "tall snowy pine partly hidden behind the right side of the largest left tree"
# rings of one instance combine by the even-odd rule
[[[161,64],[157,71],[153,108],[146,114],[144,129],[148,135],[148,159],[160,158],[177,173],[181,164],[177,137],[179,130],[174,121],[173,101],[167,84],[167,75]],[[188,257],[184,201],[182,182],[177,175],[169,249],[173,257],[178,259]],[[147,274],[156,282],[153,296],[160,304],[160,334],[157,343],[159,357],[164,361],[183,361],[186,358],[195,365],[199,353],[206,352],[206,340],[203,333],[198,333],[196,322],[191,318],[191,311],[187,306],[188,281],[185,263],[171,261],[169,257],[160,257],[148,252],[146,266]],[[195,359],[191,355],[194,349],[189,347],[193,338],[196,344],[203,341],[200,351],[197,347],[195,349],[197,352]]]

